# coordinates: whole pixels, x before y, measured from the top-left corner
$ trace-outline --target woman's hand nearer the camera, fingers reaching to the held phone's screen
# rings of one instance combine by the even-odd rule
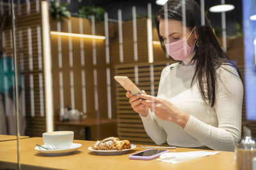
[[[189,120],[189,114],[179,110],[170,101],[147,94],[140,94],[142,104],[148,106],[155,115],[163,120],[174,122],[184,128]]]

